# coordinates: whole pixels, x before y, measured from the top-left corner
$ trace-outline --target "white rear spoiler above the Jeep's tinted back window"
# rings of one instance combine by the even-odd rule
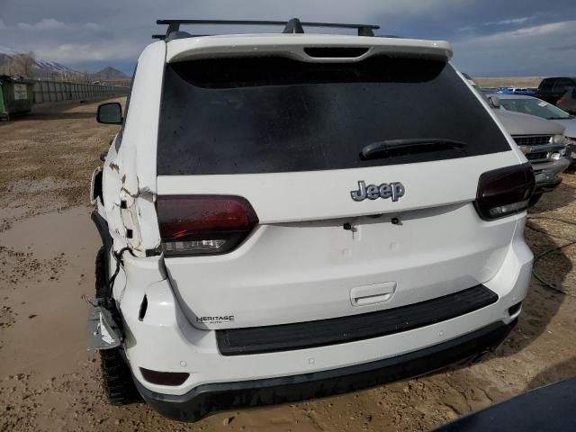
[[[304,52],[307,47],[367,48],[356,58],[312,58]],[[433,58],[447,61],[452,58],[452,48],[445,40],[415,40],[379,38],[343,34],[312,33],[257,33],[202,36],[166,42],[166,62],[187,59],[230,56],[282,55],[308,62],[360,61],[376,53]]]

